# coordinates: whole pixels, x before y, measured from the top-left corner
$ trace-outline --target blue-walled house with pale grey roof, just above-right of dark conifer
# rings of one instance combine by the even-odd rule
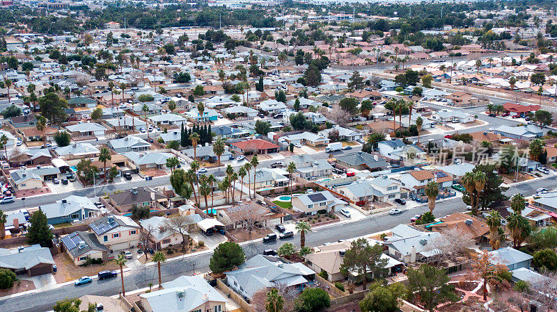
[[[45,213],[48,224],[72,223],[86,220],[99,213],[99,208],[88,197],[70,195],[57,200],[54,204],[38,206],[38,210]]]

